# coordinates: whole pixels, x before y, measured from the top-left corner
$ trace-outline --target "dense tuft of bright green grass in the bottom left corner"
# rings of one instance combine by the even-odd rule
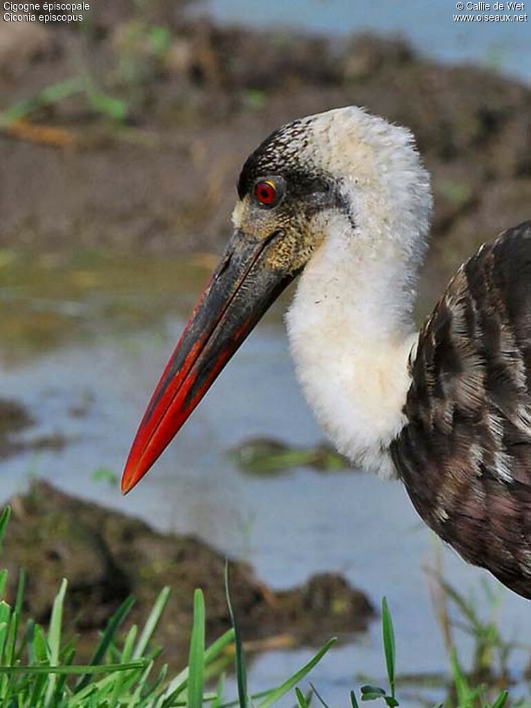
[[[10,513],[10,508],[6,507],[0,515],[0,544]],[[270,708],[308,674],[332,645],[332,641],[325,644],[303,668],[281,685],[249,697],[243,644],[231,604],[227,567],[227,600],[234,627],[205,647],[204,598],[202,591],[196,590],[189,663],[176,675],[168,676],[168,666],[156,664],[161,650],[152,645],[153,633],[168,601],[169,588],[161,590],[144,626],[139,629],[132,625],[122,636],[124,620],[134,605],[134,598],[127,598],[107,623],[91,662],[76,664],[74,641],[65,642],[63,638],[66,580],[62,581],[54,600],[47,631],[33,618],[22,615],[25,573],[21,571],[19,575],[13,606],[4,598],[6,582],[7,571],[0,571],[2,708],[224,708],[228,705],[248,708],[251,700],[260,701],[257,708]],[[226,666],[227,651],[231,645],[234,646],[239,697],[227,703],[223,701],[224,678],[221,670]],[[206,691],[206,680],[216,676],[216,689]]]

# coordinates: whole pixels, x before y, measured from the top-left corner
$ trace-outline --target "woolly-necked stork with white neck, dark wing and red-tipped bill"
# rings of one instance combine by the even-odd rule
[[[299,276],[291,355],[337,450],[401,479],[445,542],[531,598],[531,222],[461,265],[418,333],[431,206],[411,132],[361,108],[269,135],[243,165],[233,235],[148,404],[122,491]]]

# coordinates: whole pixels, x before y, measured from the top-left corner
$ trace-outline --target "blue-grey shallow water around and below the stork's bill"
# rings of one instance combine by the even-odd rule
[[[152,265],[155,272],[168,269],[168,264]],[[169,286],[167,292],[161,285],[153,293],[150,268],[144,264],[134,278],[130,270],[111,279],[102,277],[103,266],[91,265],[86,272],[100,273],[97,292],[83,287],[61,299],[59,289],[48,293],[47,304],[40,302],[45,311],[62,312],[64,326],[54,346],[38,351],[23,346],[25,337],[18,345],[13,339],[6,345],[1,395],[23,401],[37,418],[37,426],[27,434],[57,432],[71,442],[63,450],[6,460],[0,501],[21,491],[29,476],[38,475],[65,491],[139,515],[161,530],[197,534],[223,552],[252,562],[257,575],[277,588],[303,582],[316,571],[341,571],[366,590],[375,605],[387,595],[397,632],[399,673],[444,671],[443,641],[422,569],[433,563],[433,537],[399,484],[359,472],[320,474],[304,468],[251,477],[235,469],[226,455],[228,448],[254,436],[296,445],[322,440],[293,376],[282,305],[259,325],[133,493],[122,498],[116,488],[94,481],[93,472],[100,467],[121,472],[148,396],[206,273],[176,263],[175,273],[181,277],[170,304]],[[72,277],[71,269],[59,268],[57,278],[50,280],[57,280],[59,273],[62,282]],[[37,287],[35,278],[33,273],[28,289]],[[14,298],[23,313],[35,303],[21,298],[23,282],[18,282],[11,302]],[[9,301],[8,288],[3,292]],[[135,321],[130,316],[134,309],[146,316]],[[21,356],[13,355],[16,350]],[[484,573],[465,566],[451,552],[444,551],[443,558],[450,583],[465,592],[474,588],[482,598],[479,577]],[[525,641],[531,630],[528,603],[504,591],[501,616],[506,636]],[[468,646],[465,640],[461,644]],[[310,653],[301,649],[260,656],[250,671],[252,690],[279,683]],[[383,680],[381,656],[380,627],[374,622],[367,635],[335,649],[313,678],[330,704],[343,704],[356,673],[370,676],[373,683]],[[515,658],[518,670],[525,655]],[[431,697],[440,699],[440,691]]]

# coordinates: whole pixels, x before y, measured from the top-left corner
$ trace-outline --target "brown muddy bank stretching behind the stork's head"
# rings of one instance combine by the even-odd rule
[[[416,134],[433,173],[441,277],[529,217],[525,86],[439,66],[401,41],[222,29],[187,19],[183,4],[146,6],[94,3],[83,31],[19,23],[28,36],[11,43],[0,26],[3,108],[90,68],[98,95],[124,109],[113,121],[81,91],[30,115],[65,130],[65,147],[0,138],[0,246],[218,251],[247,153],[286,120],[348,103]]]

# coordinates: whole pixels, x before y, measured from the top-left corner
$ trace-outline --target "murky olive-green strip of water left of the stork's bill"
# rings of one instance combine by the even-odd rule
[[[156,331],[164,316],[187,314],[214,261],[208,254],[0,251],[0,356],[13,364],[71,341]]]

